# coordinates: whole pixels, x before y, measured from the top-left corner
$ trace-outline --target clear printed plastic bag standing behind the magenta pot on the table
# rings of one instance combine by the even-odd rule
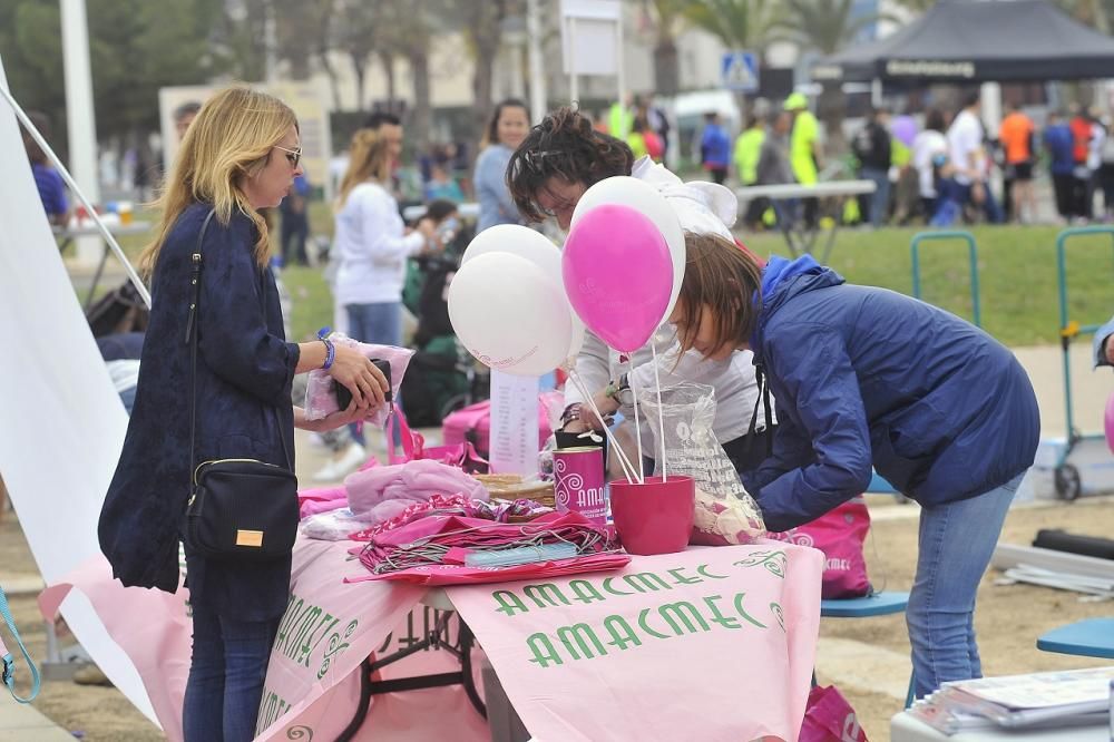
[[[684,475],[696,482],[696,518],[692,544],[724,546],[752,544],[766,535],[762,512],[747,494],[739,473],[712,432],[715,390],[706,384],[682,383],[662,390],[664,436],[657,394],[646,391],[638,406],[654,431],[651,453],[655,475]],[[662,457],[662,441],[665,457]]]

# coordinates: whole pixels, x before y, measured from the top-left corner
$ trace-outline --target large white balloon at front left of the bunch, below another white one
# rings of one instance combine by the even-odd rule
[[[564,292],[534,263],[502,252],[476,255],[449,285],[449,320],[480,363],[539,377],[565,362],[573,341]]]

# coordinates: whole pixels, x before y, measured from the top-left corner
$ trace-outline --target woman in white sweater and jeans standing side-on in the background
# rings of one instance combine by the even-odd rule
[[[413,231],[402,222],[388,187],[391,160],[392,140],[382,129],[360,129],[352,137],[334,208],[340,255],[335,293],[348,314],[349,336],[401,345],[407,258],[439,245],[432,222],[423,219]],[[363,446],[362,433],[352,432]]]

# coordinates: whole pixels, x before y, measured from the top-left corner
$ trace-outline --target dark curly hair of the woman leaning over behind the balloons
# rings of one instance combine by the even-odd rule
[[[634,153],[625,141],[592,128],[578,110],[561,107],[550,111],[510,156],[507,186],[521,212],[531,222],[545,214],[538,191],[551,177],[592,186],[614,175],[631,175]]]

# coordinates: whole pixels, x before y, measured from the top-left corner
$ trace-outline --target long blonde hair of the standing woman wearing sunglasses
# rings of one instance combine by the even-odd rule
[[[258,175],[274,147],[297,128],[294,111],[274,96],[231,87],[209,98],[186,130],[154,206],[162,212],[157,236],[139,257],[145,276],[155,271],[159,251],[182,213],[195,202],[213,204],[228,224],[238,209],[255,224],[255,261],[267,264],[267,224],[244,194],[244,180]]]

